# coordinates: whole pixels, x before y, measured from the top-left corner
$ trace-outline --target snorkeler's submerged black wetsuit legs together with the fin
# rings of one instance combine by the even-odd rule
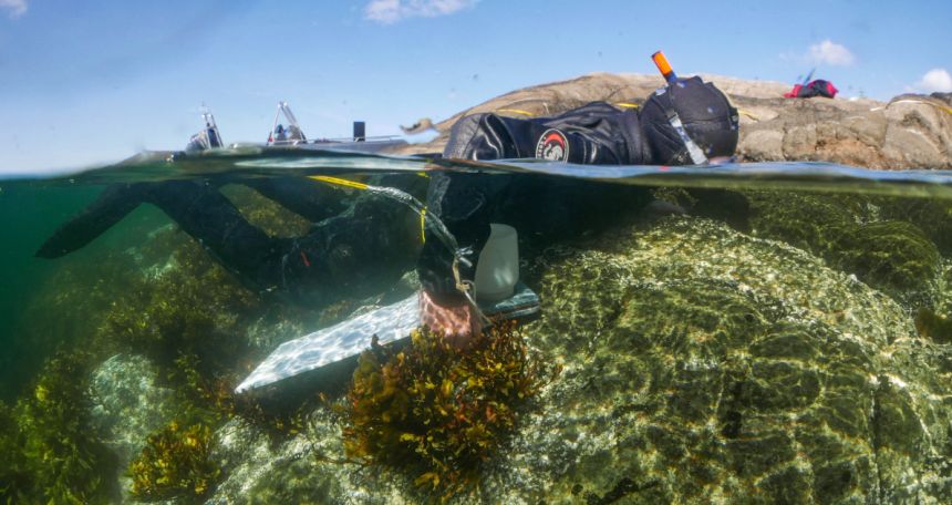
[[[418,181],[391,176],[384,184]],[[313,224],[310,231],[293,238],[269,236],[220,193],[229,183],[247,185],[307,218]],[[418,218],[386,198],[342,198],[339,189],[307,177],[214,178],[108,186],[37,256],[55,258],[79,249],[143,203],[165,212],[249,289],[312,307],[397,280],[420,248]]]

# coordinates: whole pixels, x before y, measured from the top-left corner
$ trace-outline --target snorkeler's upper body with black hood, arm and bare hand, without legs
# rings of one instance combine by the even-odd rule
[[[674,76],[640,110],[596,102],[552,117],[490,113],[463,117],[453,126],[443,156],[701,165],[733,156],[738,125],[737,111],[713,84]],[[459,249],[425,240],[417,261],[423,322],[458,342],[480,331],[478,311],[463,291],[474,280],[490,223],[513,225],[520,237],[567,238],[614,221],[650,200],[648,190],[635,186],[531,175],[435,174],[427,207],[456,237]]]

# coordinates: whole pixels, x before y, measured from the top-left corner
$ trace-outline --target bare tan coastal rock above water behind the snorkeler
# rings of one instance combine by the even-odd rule
[[[901,95],[888,103],[868,99],[784,99],[788,84],[702,74],[741,113],[742,162],[822,161],[868,168],[952,168],[952,110],[943,95]],[[593,101],[644,100],[661,76],[593,73],[525,87],[488,100],[436,124],[434,141],[400,154],[442,152],[464,115],[496,112],[550,115]]]

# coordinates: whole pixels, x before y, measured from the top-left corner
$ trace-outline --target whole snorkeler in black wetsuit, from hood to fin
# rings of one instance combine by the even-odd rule
[[[692,78],[669,83],[640,110],[596,102],[551,117],[470,115],[454,125],[443,155],[600,165],[703,164],[734,153],[737,124],[726,96]],[[219,192],[236,182],[308,218],[311,230],[294,238],[268,236]],[[424,188],[414,189],[415,185],[427,181],[386,176],[376,184],[402,184],[417,193]],[[541,248],[617,223],[620,215],[652,199],[642,187],[532,174],[435,173],[425,190],[427,213],[442,219],[458,250],[426,239],[421,251],[418,217],[374,195],[341,200],[335,189],[306,177],[213,177],[110,186],[37,255],[54,258],[79,249],[141,203],[151,203],[249,288],[313,308],[333,302],[335,296],[365,293],[369,286],[396,281],[415,261],[424,323],[447,336],[467,336],[479,331],[482,323],[457,287],[474,280],[490,223],[511,225],[529,249]]]

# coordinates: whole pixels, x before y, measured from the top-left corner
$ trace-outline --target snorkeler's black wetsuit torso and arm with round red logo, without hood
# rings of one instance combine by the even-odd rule
[[[552,117],[519,120],[474,114],[453,126],[443,156],[462,159],[548,157],[598,165],[640,165],[649,159],[635,110],[596,102]],[[514,226],[525,243],[551,243],[637,212],[644,188],[540,175],[435,174],[427,208],[456,237],[462,279],[473,280],[489,224]],[[463,300],[456,290],[453,251],[435,238],[424,245],[417,272],[438,303]]]

